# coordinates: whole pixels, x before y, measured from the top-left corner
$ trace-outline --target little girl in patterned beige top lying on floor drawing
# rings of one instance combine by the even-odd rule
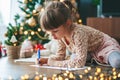
[[[40,24],[59,43],[56,55],[39,59],[41,65],[83,67],[91,55],[100,64],[120,68],[118,42],[90,26],[72,22],[70,9],[63,2],[50,2],[40,15]],[[66,49],[74,57],[66,59]]]

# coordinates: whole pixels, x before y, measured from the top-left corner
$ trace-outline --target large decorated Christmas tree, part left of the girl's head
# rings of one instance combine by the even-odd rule
[[[24,14],[20,19],[21,31],[23,31],[24,38],[40,42],[41,44],[48,42],[48,35],[41,30],[38,22],[39,13],[43,10],[45,1],[23,0],[18,2],[21,4],[19,8]]]

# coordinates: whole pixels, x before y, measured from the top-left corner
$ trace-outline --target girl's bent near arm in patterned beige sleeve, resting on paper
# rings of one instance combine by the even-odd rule
[[[86,63],[87,57],[87,48],[88,48],[88,36],[84,31],[75,31],[73,36],[73,44],[72,46],[75,50],[76,57],[64,60],[64,54],[57,54],[60,57],[51,57],[48,59],[48,64],[50,66],[62,66],[62,67],[83,67]],[[61,52],[64,51],[64,48],[61,48]]]

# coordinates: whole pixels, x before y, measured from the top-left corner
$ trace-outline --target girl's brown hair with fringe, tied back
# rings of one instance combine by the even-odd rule
[[[43,30],[51,30],[65,24],[71,18],[70,9],[62,2],[52,1],[40,15],[40,24]]]

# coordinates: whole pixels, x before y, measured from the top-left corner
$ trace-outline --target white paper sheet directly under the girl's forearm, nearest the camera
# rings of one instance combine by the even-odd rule
[[[76,71],[76,70],[83,70],[88,68],[87,66],[84,66],[82,68],[64,68],[64,67],[52,67],[52,66],[40,66],[40,65],[30,65],[32,67],[39,67],[39,68],[49,68],[49,69],[58,69],[58,70],[68,70],[68,71]]]

